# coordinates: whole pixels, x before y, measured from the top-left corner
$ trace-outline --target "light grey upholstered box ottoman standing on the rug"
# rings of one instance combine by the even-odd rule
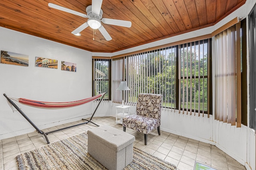
[[[122,170],[132,162],[135,137],[108,125],[87,131],[88,153],[109,170]]]

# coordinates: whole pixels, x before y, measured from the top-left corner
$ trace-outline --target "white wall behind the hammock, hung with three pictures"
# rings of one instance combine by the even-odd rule
[[[0,37],[0,50],[29,56],[28,67],[0,63],[0,139],[35,131],[18,111],[12,112],[4,93],[48,102],[92,96],[92,53],[3,27]],[[58,60],[58,69],[35,67],[35,57]],[[76,63],[76,72],[61,70],[61,61]],[[39,129],[80,120],[83,115],[87,118],[95,108],[92,103],[67,109],[40,109],[15,103]]]

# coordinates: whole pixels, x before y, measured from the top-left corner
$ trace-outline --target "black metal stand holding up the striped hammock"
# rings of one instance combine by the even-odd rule
[[[107,92],[106,92],[106,93],[107,93]],[[97,125],[96,123],[92,122],[92,117],[93,117],[94,114],[96,113],[96,110],[98,109],[98,107],[99,107],[99,105],[100,105],[101,101],[103,100],[103,98],[104,98],[104,96],[105,96],[106,93],[102,94],[101,99],[100,99],[100,102],[98,103],[98,105],[97,105],[96,109],[94,110],[94,112],[93,112],[92,116],[90,117],[90,119],[82,119],[82,120],[85,120],[86,122],[79,123],[79,124],[72,125],[72,126],[68,126],[68,127],[64,127],[64,128],[57,129],[57,130],[54,130],[54,131],[49,131],[49,132],[44,132],[44,131],[40,130],[40,129],[28,118],[28,116],[27,116],[10,98],[8,98],[8,96],[6,96],[6,94],[3,94],[3,95],[4,95],[4,97],[6,97],[6,99],[8,100],[8,102],[9,102],[10,104],[12,104],[12,106],[14,106],[14,107],[17,109],[17,111],[18,111],[35,129],[36,129],[36,131],[37,131],[38,133],[44,135],[44,137],[45,137],[45,139],[46,139],[46,143],[49,144],[50,141],[49,141],[47,135],[50,134],[50,133],[54,133],[54,132],[57,132],[57,131],[62,131],[62,130],[64,130],[64,129],[69,129],[69,128],[71,128],[71,127],[76,127],[76,126],[84,125],[84,124],[87,124],[87,123],[92,123],[92,124],[94,124],[94,125],[96,125],[96,126],[99,126],[99,125]]]

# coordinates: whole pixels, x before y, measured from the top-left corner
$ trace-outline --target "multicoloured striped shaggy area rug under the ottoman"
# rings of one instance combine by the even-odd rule
[[[19,170],[107,170],[87,153],[86,133],[18,155]],[[133,161],[124,170],[176,170],[176,166],[133,149]]]

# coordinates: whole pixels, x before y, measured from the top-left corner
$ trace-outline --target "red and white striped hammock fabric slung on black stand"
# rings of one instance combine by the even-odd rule
[[[73,106],[79,106],[81,104],[86,104],[88,102],[94,101],[101,96],[104,96],[105,93],[98,94],[96,96],[86,98],[83,100],[78,100],[74,102],[42,102],[42,101],[36,101],[36,100],[29,100],[25,98],[10,98],[12,100],[15,100],[19,103],[29,105],[29,106],[34,106],[34,107],[42,107],[42,108],[51,108],[51,109],[60,109],[60,108],[65,108],[65,107],[73,107]]]

